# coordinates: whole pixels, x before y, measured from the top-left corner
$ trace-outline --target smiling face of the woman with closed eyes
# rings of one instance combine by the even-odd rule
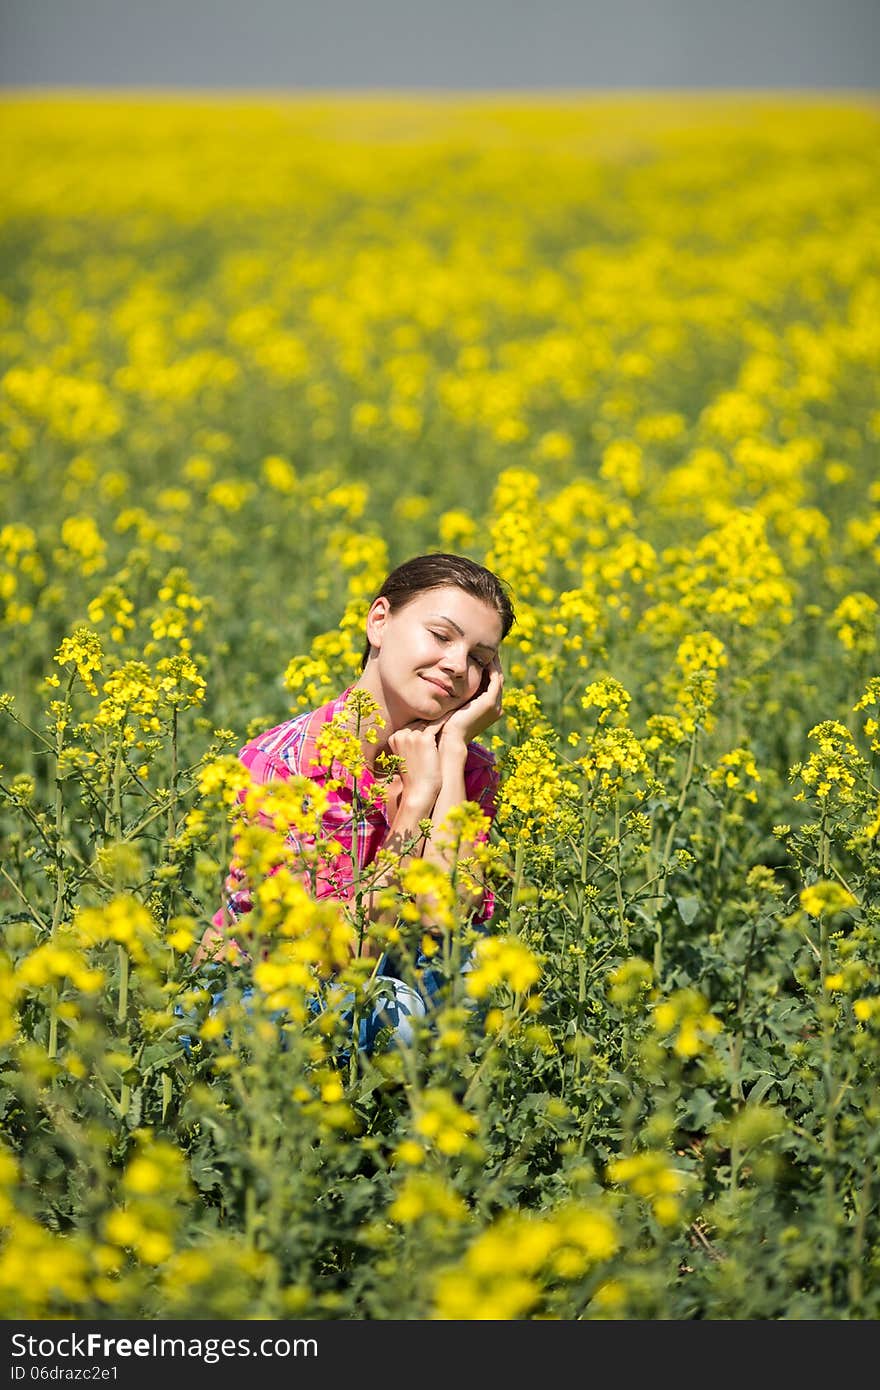
[[[502,637],[500,614],[455,585],[425,589],[396,613],[370,607],[367,637],[375,676],[395,723],[439,719],[480,689]]]

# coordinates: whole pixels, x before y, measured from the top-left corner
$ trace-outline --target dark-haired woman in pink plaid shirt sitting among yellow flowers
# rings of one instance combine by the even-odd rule
[[[388,574],[370,605],[357,681],[320,709],[267,730],[241,751],[257,784],[293,776],[320,785],[334,781],[321,838],[338,841],[342,852],[317,870],[316,897],[350,902],[364,870],[385,848],[399,858],[393,870],[370,880],[367,910],[373,913],[380,891],[393,887],[396,874],[413,858],[449,867],[448,841],[439,830],[450,809],[475,802],[489,820],[494,817],[495,758],[475,739],[502,713],[499,648],[513,621],[510,598],[491,570],[456,555],[416,556]],[[359,717],[356,724],[363,773],[346,774],[339,784],[336,767],[331,778],[320,735],[341,717],[348,717],[355,730],[349,699],[355,691],[371,698],[366,703],[374,713]],[[377,770],[389,755],[393,774],[377,785]],[[307,848],[293,833],[289,844],[293,852]],[[222,959],[229,951],[228,924],[252,909],[249,887],[235,865],[227,890],[224,908],[202,938],[196,965]],[[466,910],[471,922],[487,923],[491,892],[473,895]],[[368,940],[361,947],[370,954]],[[424,972],[421,990],[414,990],[398,979],[388,958],[382,956],[377,969],[385,999],[361,1020],[359,1041],[367,1049],[382,1027],[409,1041],[409,1019],[427,1012],[437,988],[431,970]]]

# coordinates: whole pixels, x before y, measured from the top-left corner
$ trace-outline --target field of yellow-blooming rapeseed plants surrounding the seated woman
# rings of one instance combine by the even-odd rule
[[[880,1315],[877,104],[0,132],[0,1316]],[[430,549],[514,598],[498,906],[370,1058],[295,876],[192,948],[238,748]]]

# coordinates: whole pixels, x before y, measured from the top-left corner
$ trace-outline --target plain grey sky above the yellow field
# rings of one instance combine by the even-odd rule
[[[0,0],[3,88],[880,88],[880,0]]]

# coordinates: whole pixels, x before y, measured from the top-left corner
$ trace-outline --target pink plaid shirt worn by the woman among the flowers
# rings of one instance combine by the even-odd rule
[[[321,763],[317,752],[317,737],[324,724],[335,714],[342,713],[350,691],[352,687],[342,691],[336,699],[321,705],[320,709],[298,714],[245,744],[239,759],[249,770],[252,781],[263,784],[277,777],[299,776],[309,777],[317,785],[327,784],[331,778],[331,770]],[[361,874],[367,865],[375,859],[391,826],[382,799],[380,796],[374,799],[370,795],[377,778],[368,767],[364,767],[357,780],[350,773],[343,773],[341,778],[338,771],[334,773],[334,778],[342,780],[342,785],[331,787],[328,791],[329,805],[321,819],[321,840],[338,841],[342,851],[335,859],[318,860],[314,894],[317,898],[338,898],[342,902],[349,902],[355,894],[355,862],[359,874]],[[360,794],[357,803],[355,803],[355,790]],[[464,762],[466,799],[477,802],[484,815],[494,820],[496,792],[495,755],[481,744],[468,744]],[[243,801],[245,794],[239,799]],[[293,851],[298,851],[313,848],[316,841],[311,837],[291,833],[288,842]],[[242,869],[235,859],[229,867],[225,890],[225,922],[236,922],[243,913],[252,910],[252,899]],[[488,922],[494,908],[494,895],[487,888],[480,908],[473,913],[473,920]],[[218,927],[225,924],[222,908],[214,913],[213,922]]]

